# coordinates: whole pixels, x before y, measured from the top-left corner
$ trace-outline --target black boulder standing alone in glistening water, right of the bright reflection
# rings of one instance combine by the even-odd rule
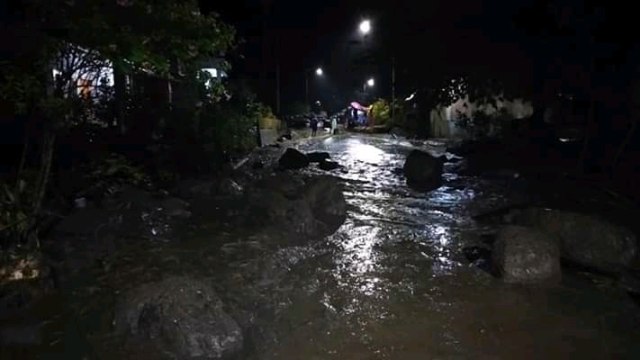
[[[430,154],[413,150],[404,163],[407,184],[420,191],[431,191],[442,184],[442,160]]]

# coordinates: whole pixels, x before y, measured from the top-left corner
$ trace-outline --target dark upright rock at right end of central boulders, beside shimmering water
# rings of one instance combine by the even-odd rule
[[[304,190],[304,199],[314,217],[326,225],[328,233],[334,233],[347,218],[347,202],[340,182],[331,176],[320,176],[309,180]]]

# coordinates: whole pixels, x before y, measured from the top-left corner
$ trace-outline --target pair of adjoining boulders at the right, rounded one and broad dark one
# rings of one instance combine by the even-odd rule
[[[560,261],[600,273],[625,271],[638,253],[630,230],[595,216],[525,208],[505,216],[493,248],[494,270],[511,283],[557,282]]]

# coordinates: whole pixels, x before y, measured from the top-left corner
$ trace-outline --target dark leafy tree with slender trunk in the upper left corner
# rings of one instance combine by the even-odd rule
[[[7,197],[15,199],[22,191],[34,194],[27,202],[16,202],[27,209],[29,223],[18,237],[34,238],[56,136],[79,116],[74,105],[78,80],[97,76],[112,64],[122,123],[126,90],[122,75],[142,71],[192,80],[201,61],[222,57],[233,47],[234,31],[216,14],[200,14],[195,0],[22,0],[16,4],[6,38],[22,41],[14,42],[8,51],[12,57],[0,71],[0,96],[27,130],[16,185]],[[55,81],[52,69],[58,71]],[[29,144],[38,146],[40,161],[37,174],[25,181]],[[15,225],[2,222],[0,231]]]

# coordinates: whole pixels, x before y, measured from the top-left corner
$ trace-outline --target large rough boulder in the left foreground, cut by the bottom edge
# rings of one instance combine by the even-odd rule
[[[125,293],[116,306],[115,325],[130,347],[147,345],[172,359],[228,359],[243,346],[240,326],[211,286],[187,277]]]

